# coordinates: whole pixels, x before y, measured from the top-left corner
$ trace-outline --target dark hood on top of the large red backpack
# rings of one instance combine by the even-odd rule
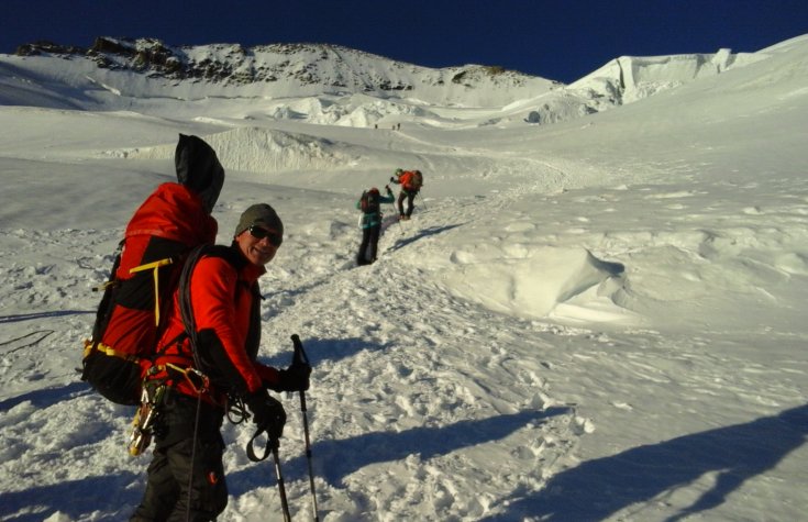
[[[202,138],[180,134],[174,164],[177,181],[199,195],[211,213],[224,185],[224,169],[217,153]]]

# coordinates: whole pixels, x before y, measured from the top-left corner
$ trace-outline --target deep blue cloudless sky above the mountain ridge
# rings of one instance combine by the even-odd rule
[[[0,53],[96,36],[168,45],[316,42],[427,67],[498,65],[563,82],[612,58],[755,52],[808,33],[807,0],[3,0]]]

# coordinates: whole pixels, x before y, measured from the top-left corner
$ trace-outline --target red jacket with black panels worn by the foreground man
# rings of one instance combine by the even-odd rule
[[[214,247],[193,268],[190,299],[203,366],[197,369],[210,378],[211,393],[203,396],[209,402],[220,402],[223,393],[243,397],[258,391],[264,382],[278,382],[277,370],[256,360],[261,344],[258,277],[265,271],[248,263],[235,246]],[[175,292],[168,325],[157,344],[157,367],[166,363],[195,366],[190,338],[182,335],[180,291]],[[196,397],[187,379],[174,374],[174,382],[178,391]]]

